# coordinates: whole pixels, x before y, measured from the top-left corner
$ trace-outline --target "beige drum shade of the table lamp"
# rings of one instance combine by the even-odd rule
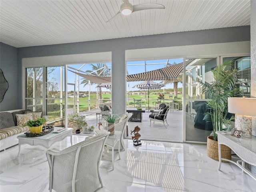
[[[228,98],[228,112],[256,116],[256,98]]]

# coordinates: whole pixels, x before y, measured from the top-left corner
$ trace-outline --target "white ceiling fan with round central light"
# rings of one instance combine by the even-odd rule
[[[116,16],[118,16],[119,14],[127,16],[136,11],[141,11],[146,9],[164,9],[164,8],[165,6],[158,3],[142,3],[142,4],[132,5],[129,3],[128,0],[123,0],[123,3],[120,6],[120,10],[118,11],[118,13],[107,22],[114,20]]]

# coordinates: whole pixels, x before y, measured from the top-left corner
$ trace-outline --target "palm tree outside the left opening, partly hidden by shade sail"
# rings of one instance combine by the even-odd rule
[[[96,65],[90,64],[92,66],[92,70],[86,70],[86,73],[92,74],[95,76],[108,76],[110,75],[108,73],[108,70],[106,70],[105,66],[103,63],[97,63]],[[84,84],[84,87],[89,84],[89,81],[87,79],[82,80],[80,84]],[[90,82],[90,84],[96,84],[94,82]],[[100,103],[102,102],[102,95],[101,95],[101,87],[99,87],[99,99]]]

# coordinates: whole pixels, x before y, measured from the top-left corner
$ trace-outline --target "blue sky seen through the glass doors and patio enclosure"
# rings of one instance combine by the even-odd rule
[[[160,68],[164,68],[166,67],[166,62],[167,62],[167,59],[164,59],[164,60],[148,60],[148,61],[130,61],[130,62],[127,62],[126,63],[126,66],[127,66],[127,71],[128,71],[128,74],[131,75],[131,74],[137,74],[137,73],[142,73],[142,72],[145,72],[145,65],[144,63],[146,62],[146,71],[152,71],[152,70],[156,70],[156,69],[160,69]],[[169,64],[173,64],[173,63],[181,63],[183,62],[183,58],[180,58],[180,59],[170,59],[168,61]],[[110,68],[111,70],[111,63],[106,63],[106,65],[108,66],[108,68]],[[72,68],[75,68],[75,69],[79,69],[81,71],[86,71],[86,70],[92,70],[92,67],[90,64],[70,64],[68,65]],[[72,70],[70,68],[68,68],[69,70]],[[59,75],[60,73],[59,72],[56,72],[54,73],[54,77],[56,78],[56,82],[60,82],[60,78],[59,78]],[[79,82],[81,83],[83,80],[82,77],[80,77],[80,80]],[[141,81],[140,81],[141,82]],[[126,83],[126,90],[130,90],[130,91],[137,91],[138,88],[132,88],[134,85],[140,83],[140,82],[127,82]],[[160,83],[161,81],[155,81],[155,82],[158,82]],[[68,71],[68,83],[69,84],[76,84],[75,86],[77,86],[77,75],[73,72],[70,72]],[[90,86],[90,90],[91,91],[96,91],[97,88],[96,88],[97,84],[93,84]],[[182,84],[181,83],[178,83],[178,87],[182,87]],[[164,88],[173,88],[173,84],[167,84],[166,87]],[[162,88],[162,89],[164,89]],[[80,84],[79,86],[79,89],[80,91],[88,91],[88,85],[87,86],[84,86],[83,84]],[[73,85],[68,85],[68,91],[70,90],[74,90],[74,86]],[[102,91],[110,91],[109,89],[106,89],[106,88],[102,88]]]

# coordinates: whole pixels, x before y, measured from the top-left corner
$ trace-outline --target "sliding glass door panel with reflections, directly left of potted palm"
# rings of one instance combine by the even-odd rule
[[[214,79],[211,70],[217,66],[217,58],[198,58],[186,62],[185,115],[186,140],[206,142],[212,132],[210,122],[203,120],[207,96],[201,94],[199,82],[210,84]]]

